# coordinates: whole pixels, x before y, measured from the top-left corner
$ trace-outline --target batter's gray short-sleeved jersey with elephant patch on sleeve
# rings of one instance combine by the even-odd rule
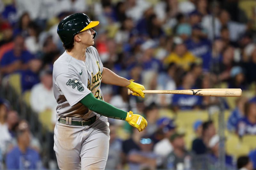
[[[60,116],[90,118],[97,113],[84,107],[79,101],[91,93],[103,100],[100,90],[103,65],[94,47],[88,47],[85,62],[77,60],[65,51],[53,64],[53,92]]]

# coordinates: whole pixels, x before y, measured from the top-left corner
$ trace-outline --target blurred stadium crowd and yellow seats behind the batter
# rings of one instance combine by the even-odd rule
[[[256,168],[255,0],[1,0],[0,12],[0,169],[57,169],[51,71],[64,50],[57,25],[76,12],[100,21],[94,46],[104,66],[147,90],[243,90],[142,100],[102,85],[105,101],[148,120],[138,133],[109,119],[107,169]],[[24,146],[28,137],[40,157],[12,162],[17,138]]]

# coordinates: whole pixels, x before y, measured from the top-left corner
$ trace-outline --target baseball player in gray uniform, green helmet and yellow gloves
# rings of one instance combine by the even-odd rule
[[[57,33],[66,51],[53,65],[53,92],[58,103],[54,151],[61,170],[104,169],[108,158],[108,118],[127,121],[142,131],[147,121],[132,111],[104,102],[101,82],[127,87],[144,98],[144,86],[104,68],[92,47],[97,35],[87,15],[76,13],[60,21]]]

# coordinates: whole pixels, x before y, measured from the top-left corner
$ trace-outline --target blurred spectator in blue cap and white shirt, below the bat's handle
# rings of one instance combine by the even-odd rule
[[[162,129],[164,138],[155,144],[154,152],[164,158],[173,150],[170,137],[175,133],[176,125],[172,119],[167,117],[159,119],[157,125],[159,129]]]

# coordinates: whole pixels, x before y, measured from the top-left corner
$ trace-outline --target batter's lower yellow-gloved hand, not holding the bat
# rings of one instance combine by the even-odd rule
[[[139,132],[144,130],[148,126],[148,122],[141,115],[133,114],[132,111],[127,112],[125,119],[131,126],[137,128]]]

